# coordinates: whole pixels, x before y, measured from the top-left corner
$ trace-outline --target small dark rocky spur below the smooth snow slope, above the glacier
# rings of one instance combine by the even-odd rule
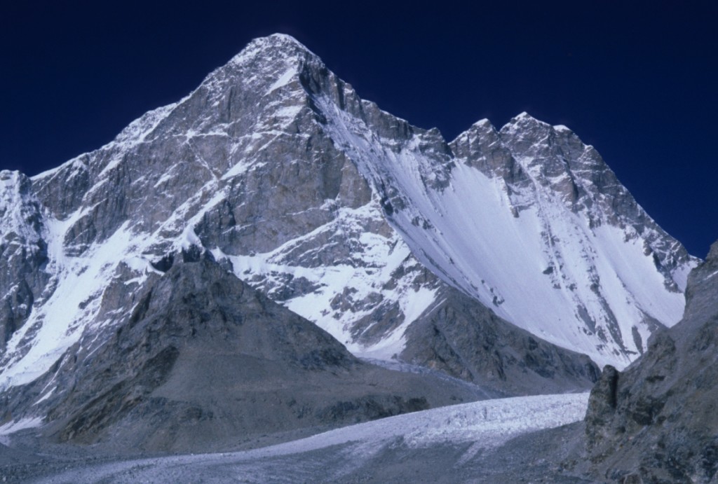
[[[589,389],[597,380],[588,356],[536,338],[457,290],[438,299],[407,330],[401,359],[507,395]]]

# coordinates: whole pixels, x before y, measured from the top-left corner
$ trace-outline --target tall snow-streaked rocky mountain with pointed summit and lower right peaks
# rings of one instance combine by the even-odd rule
[[[358,355],[401,359],[458,291],[620,367],[679,320],[696,264],[567,128],[522,114],[447,143],[284,35],[97,151],[0,178],[0,388],[91,353],[183,248]]]

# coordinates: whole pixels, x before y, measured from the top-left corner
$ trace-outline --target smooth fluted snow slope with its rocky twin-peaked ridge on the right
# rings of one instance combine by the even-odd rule
[[[643,353],[657,325],[680,320],[696,260],[570,131],[526,113],[500,133],[486,120],[477,123],[493,131],[491,144],[505,151],[505,165],[492,171],[462,153],[459,141],[452,143],[453,163],[427,156],[419,135],[390,149],[363,119],[327,98],[318,102],[331,113],[327,129],[364,176],[376,187],[391,187],[384,198],[399,208],[390,222],[412,253],[501,317],[619,367]],[[528,138],[531,149],[512,137]],[[551,137],[559,139],[546,141]],[[542,153],[551,143],[572,143],[578,153]],[[531,150],[538,153],[526,155]],[[551,163],[560,171],[551,173]],[[515,179],[502,176],[507,166],[518,172]],[[628,206],[623,212],[615,208],[621,204]]]

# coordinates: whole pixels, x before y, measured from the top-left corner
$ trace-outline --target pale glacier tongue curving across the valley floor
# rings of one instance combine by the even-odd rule
[[[218,483],[233,480],[291,483],[317,479],[339,482],[358,471],[376,470],[373,469],[376,460],[397,447],[416,452],[440,446],[456,449],[455,460],[449,462],[453,465],[443,470],[442,479],[456,482],[460,470],[470,468],[472,459],[482,452],[498,449],[505,442],[528,432],[579,421],[586,410],[587,399],[588,394],[584,393],[452,405],[350,425],[255,450],[117,460],[65,470],[31,482],[103,480],[123,483],[187,479]],[[406,474],[403,477],[406,478]]]

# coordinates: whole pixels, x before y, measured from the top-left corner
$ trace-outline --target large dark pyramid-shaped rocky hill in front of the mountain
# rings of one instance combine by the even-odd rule
[[[189,256],[189,257],[188,257]],[[465,387],[365,364],[313,323],[185,253],[82,364],[56,375],[60,441],[149,451],[221,449],[475,399]]]

